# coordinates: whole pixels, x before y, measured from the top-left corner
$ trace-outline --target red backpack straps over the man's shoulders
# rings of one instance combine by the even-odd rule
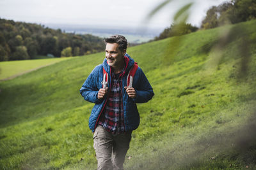
[[[133,80],[133,76],[135,75],[137,69],[138,69],[138,63],[134,62],[133,66],[131,67],[128,76],[127,76],[127,87],[132,87],[132,80]],[[108,73],[106,72],[106,70],[103,68],[103,81],[102,83],[102,88],[106,89],[106,87],[108,86]]]

